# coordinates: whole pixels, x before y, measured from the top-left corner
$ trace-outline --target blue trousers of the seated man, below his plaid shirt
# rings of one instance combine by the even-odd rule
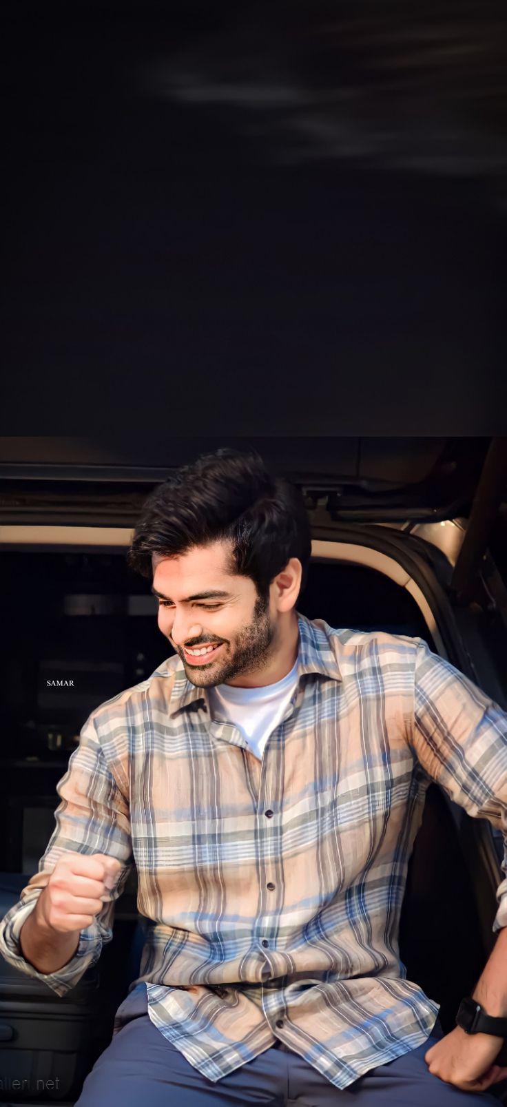
[[[86,1077],[75,1107],[498,1107],[499,1103],[489,1092],[461,1092],[430,1073],[424,1054],[443,1036],[438,1021],[423,1045],[370,1069],[341,1090],[281,1042],[215,1084],[153,1025],[145,987],[132,992],[120,1012],[121,1030]]]

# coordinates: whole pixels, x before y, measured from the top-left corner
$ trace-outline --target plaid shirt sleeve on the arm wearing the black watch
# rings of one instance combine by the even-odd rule
[[[507,713],[420,640],[414,680],[413,747],[420,764],[455,804],[504,837],[494,932],[507,927]]]

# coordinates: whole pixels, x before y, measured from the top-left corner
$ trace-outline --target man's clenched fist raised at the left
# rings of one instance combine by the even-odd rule
[[[39,897],[43,923],[60,934],[90,927],[111,899],[121,868],[115,857],[104,853],[64,853]]]

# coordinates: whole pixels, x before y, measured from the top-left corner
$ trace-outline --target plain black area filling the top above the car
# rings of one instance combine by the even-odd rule
[[[506,433],[506,22],[6,4],[0,433]]]

